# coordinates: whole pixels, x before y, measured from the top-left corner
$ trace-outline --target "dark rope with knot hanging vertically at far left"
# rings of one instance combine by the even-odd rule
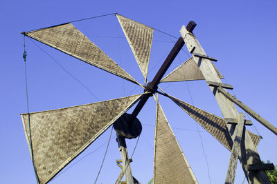
[[[26,67],[27,52],[26,52],[26,48],[25,48],[25,34],[23,36],[23,40],[24,40],[24,44],[23,44],[23,47],[24,47],[23,59],[24,59],[24,68],[25,68],[25,84],[26,84],[26,101],[27,101],[27,112],[28,112],[30,154],[31,154],[31,158],[32,158],[33,168],[34,168],[34,171],[35,171],[35,178],[37,180],[37,183],[40,183],[39,182],[39,178],[37,176],[37,170],[35,168],[35,161],[34,161],[34,154],[33,154],[33,143],[32,143],[32,134],[30,132],[30,111],[29,111],[28,85],[27,85],[27,67]]]

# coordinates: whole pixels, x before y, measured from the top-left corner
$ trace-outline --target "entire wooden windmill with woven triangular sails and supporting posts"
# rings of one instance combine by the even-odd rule
[[[168,54],[154,79],[148,81],[148,63],[154,30],[119,14],[116,14],[116,17],[123,28],[147,85],[142,85],[127,74],[123,68],[120,68],[71,23],[23,32],[27,37],[45,43],[143,88],[141,94],[120,99],[59,110],[21,114],[39,183],[50,181],[111,125],[114,126],[118,134],[118,145],[122,157],[123,166],[121,167],[123,172],[121,172],[120,177],[122,178],[125,174],[127,183],[134,183],[125,138],[133,139],[141,133],[141,123],[136,119],[136,116],[151,96],[154,96],[157,101],[154,183],[184,183],[184,181],[186,183],[197,183],[154,94],[167,96],[231,151],[226,183],[233,183],[234,168],[236,168],[238,158],[242,163],[244,174],[247,176],[249,183],[268,183],[269,181],[263,170],[272,167],[272,165],[262,165],[260,163],[256,151],[260,136],[244,128],[244,125],[251,125],[251,122],[245,121],[243,114],[238,114],[233,103],[240,106],[274,134],[277,134],[276,127],[224,90],[224,88],[232,89],[233,87],[220,81],[222,74],[212,63],[216,59],[207,56],[193,34],[196,24],[190,22],[186,27],[181,28],[181,37]],[[185,43],[192,57],[163,78],[166,70],[168,70]],[[220,105],[224,119],[170,96],[161,89],[158,90],[158,85],[161,82],[201,79],[205,79],[211,88],[217,103]],[[127,110],[136,102],[138,104],[132,114],[127,114]],[[120,182],[120,177],[116,182]]]

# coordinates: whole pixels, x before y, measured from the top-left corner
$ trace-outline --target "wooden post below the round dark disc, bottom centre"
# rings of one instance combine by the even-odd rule
[[[134,184],[131,166],[129,165],[129,158],[128,158],[128,153],[127,153],[127,146],[126,146],[125,138],[118,134],[116,134],[116,136],[117,136],[116,141],[118,143],[118,148],[120,151],[122,165],[123,165],[123,174],[120,174],[120,176],[122,178],[123,175],[125,174],[125,179],[126,179],[127,184]],[[119,183],[121,178],[118,178],[116,183]]]

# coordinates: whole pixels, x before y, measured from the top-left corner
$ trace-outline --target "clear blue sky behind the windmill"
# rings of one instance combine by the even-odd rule
[[[35,183],[30,153],[19,116],[20,113],[27,112],[21,31],[118,12],[179,37],[181,26],[193,20],[197,23],[194,33],[202,47],[209,56],[218,59],[215,65],[226,78],[223,82],[233,85],[233,92],[240,101],[277,126],[276,7],[276,1],[1,1],[0,183]],[[137,81],[143,82],[143,76],[114,15],[73,25]],[[154,32],[149,80],[152,80],[175,41],[176,39],[166,34]],[[128,81],[36,41],[26,39],[26,50],[30,112],[98,101],[51,57],[82,81],[101,101],[143,92],[139,86],[135,88],[135,85]],[[188,59],[187,49],[184,50],[168,72]],[[211,90],[204,81],[164,83],[160,86],[166,89],[168,94],[222,116]],[[198,125],[208,161],[207,167],[195,121],[163,96],[160,96],[160,102],[197,181],[209,183],[209,173],[211,183],[223,183],[230,152]],[[153,175],[155,110],[154,99],[150,99],[138,116],[143,124],[143,132],[134,152],[132,172],[141,183],[147,183]],[[238,111],[242,112],[239,108]],[[252,118],[251,120],[258,133],[253,126],[247,128],[263,137],[258,145],[261,159],[270,160],[276,165],[276,135]],[[110,131],[109,129],[102,134],[65,168],[66,172],[57,176],[51,183],[94,183]],[[115,132],[111,137],[107,158],[97,183],[114,183],[120,174],[116,165],[120,153]],[[129,154],[132,153],[135,143],[136,140],[127,140]],[[80,159],[82,160],[79,161]],[[244,174],[238,163],[235,183],[242,183],[243,180]]]

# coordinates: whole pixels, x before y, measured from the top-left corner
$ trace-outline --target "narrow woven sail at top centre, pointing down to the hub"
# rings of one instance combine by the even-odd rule
[[[154,29],[119,14],[116,17],[146,79]]]

